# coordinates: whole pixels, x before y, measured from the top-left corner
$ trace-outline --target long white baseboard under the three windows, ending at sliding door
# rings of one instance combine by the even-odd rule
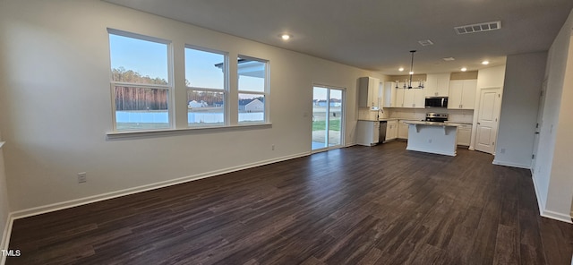
[[[21,209],[21,210],[13,211],[10,214],[12,216],[11,221],[13,219],[27,218],[27,217],[47,213],[47,212],[56,211],[59,209],[73,208],[76,206],[90,204],[90,203],[97,202],[97,201],[105,201],[105,200],[114,199],[117,197],[122,197],[122,196],[130,195],[130,194],[134,194],[134,193],[147,192],[147,191],[156,190],[159,188],[172,186],[172,185],[176,185],[176,184],[184,184],[184,183],[192,182],[194,180],[207,178],[210,176],[223,175],[223,174],[227,174],[227,173],[231,173],[231,172],[235,172],[235,171],[239,171],[239,170],[243,170],[243,169],[247,169],[247,168],[252,168],[252,167],[261,167],[264,165],[269,165],[272,163],[286,161],[286,160],[294,159],[294,158],[302,158],[302,157],[309,156],[309,155],[311,155],[310,152],[298,153],[295,155],[290,155],[290,156],[281,157],[281,158],[272,158],[272,159],[268,159],[268,160],[262,160],[259,162],[255,162],[255,163],[251,163],[251,164],[245,164],[245,165],[241,165],[241,166],[237,166],[237,167],[227,167],[224,169],[219,169],[219,170],[215,170],[215,171],[201,173],[198,175],[188,175],[188,176],[184,176],[184,177],[180,177],[180,178],[175,178],[172,180],[158,182],[155,184],[146,184],[146,185],[141,185],[141,186],[128,188],[128,189],[124,189],[124,190],[119,190],[119,191],[115,191],[115,192],[107,192],[107,193],[102,193],[102,194],[93,195],[93,196],[89,196],[89,197],[84,197],[84,198],[80,198],[80,199],[56,202],[56,203],[38,206],[38,207],[30,208],[30,209]]]

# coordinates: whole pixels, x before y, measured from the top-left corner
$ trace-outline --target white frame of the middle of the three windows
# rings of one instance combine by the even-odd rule
[[[226,127],[230,124],[229,121],[229,97],[230,97],[230,93],[229,93],[229,53],[225,52],[225,51],[220,51],[220,50],[216,50],[216,49],[211,49],[211,48],[207,48],[207,47],[200,47],[200,46],[194,46],[194,45],[190,45],[190,44],[185,44],[184,46],[184,73],[185,73],[185,80],[187,79],[186,76],[186,70],[187,70],[187,65],[185,64],[186,61],[186,57],[185,57],[185,49],[193,49],[193,50],[198,50],[201,52],[206,52],[206,53],[212,53],[212,54],[217,54],[217,55],[221,55],[223,56],[223,68],[221,69],[223,71],[223,89],[219,90],[219,89],[212,89],[212,88],[200,88],[200,87],[190,87],[187,86],[187,84],[185,84],[185,95],[187,95],[187,93],[189,93],[189,90],[194,90],[194,91],[204,91],[204,92],[223,92],[223,124],[203,124],[201,126],[192,126],[189,124],[189,122],[187,121],[187,128],[188,129],[200,129],[200,128],[216,128],[216,127]],[[187,102],[188,98],[185,98],[185,102],[186,104],[189,104]],[[189,110],[187,110],[187,119],[189,119]]]

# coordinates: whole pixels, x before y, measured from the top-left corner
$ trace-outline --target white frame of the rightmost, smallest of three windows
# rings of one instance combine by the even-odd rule
[[[265,64],[265,70],[264,70],[264,90],[262,92],[260,91],[250,91],[250,90],[240,90],[239,87],[239,78],[240,78],[240,74],[239,74],[239,58],[244,58],[244,59],[248,59],[250,61],[256,61],[262,64]],[[270,110],[269,110],[269,99],[270,99],[270,61],[269,60],[265,60],[265,59],[261,59],[261,58],[257,58],[257,57],[252,57],[252,56],[244,56],[244,55],[237,55],[237,65],[236,65],[236,83],[237,83],[237,88],[236,88],[236,95],[237,98],[239,97],[240,94],[254,94],[254,95],[261,95],[265,98],[265,102],[264,102],[264,115],[263,115],[263,120],[262,121],[255,121],[255,122],[241,122],[239,121],[239,114],[240,112],[238,112],[238,108],[237,108],[237,124],[240,125],[244,125],[244,124],[269,124],[270,122]],[[238,98],[238,100],[240,100],[240,98]],[[238,104],[238,100],[237,100],[237,104]],[[238,107],[238,106],[237,106]]]

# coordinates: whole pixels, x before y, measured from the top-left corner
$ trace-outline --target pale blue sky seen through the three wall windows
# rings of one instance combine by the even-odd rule
[[[168,81],[168,45],[138,38],[128,38],[109,34],[111,68],[124,67]],[[223,89],[224,74],[215,64],[223,63],[222,54],[185,48],[185,79],[192,87]],[[239,90],[264,91],[264,80],[250,76],[240,76]]]

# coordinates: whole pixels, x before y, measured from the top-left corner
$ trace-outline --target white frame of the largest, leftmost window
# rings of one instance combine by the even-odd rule
[[[135,38],[144,41],[155,42],[159,44],[164,44],[167,46],[167,85],[160,84],[141,84],[133,82],[124,81],[114,81],[113,72],[111,65],[111,43],[110,35],[121,36],[124,38]],[[111,108],[112,108],[112,128],[114,133],[145,133],[145,132],[156,132],[172,130],[175,126],[175,81],[174,81],[174,67],[173,67],[173,42],[171,40],[163,38],[155,38],[146,35],[141,35],[138,33],[128,32],[124,30],[115,30],[107,28],[107,44],[109,47],[109,82],[110,82],[110,96],[111,96]],[[157,128],[157,129],[143,129],[143,130],[117,130],[117,119],[116,119],[116,107],[115,107],[115,87],[129,87],[135,89],[158,89],[167,90],[167,128]]]

